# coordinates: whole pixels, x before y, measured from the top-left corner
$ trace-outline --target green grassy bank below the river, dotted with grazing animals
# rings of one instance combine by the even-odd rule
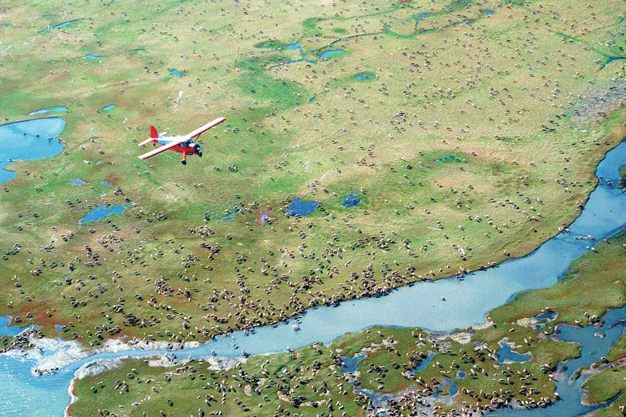
[[[327,372],[331,370],[333,372],[336,371],[341,376],[341,371],[334,366],[336,362],[334,359],[354,356],[360,353],[366,354],[366,358],[357,366],[359,382],[362,387],[378,393],[396,394],[407,389],[425,389],[426,387],[434,390],[437,389],[437,386],[445,392],[446,379],[454,379],[459,392],[454,396],[453,404],[440,403],[443,407],[441,409],[442,412],[458,407],[463,401],[467,401],[472,406],[475,406],[477,403],[485,406],[495,398],[508,399],[513,401],[513,403],[516,403],[518,400],[540,401],[541,397],[552,398],[555,392],[555,384],[549,379],[549,374],[558,369],[559,364],[563,361],[576,358],[580,354],[580,349],[576,343],[558,341],[551,334],[555,323],[568,323],[565,319],[567,318],[567,310],[562,308],[556,309],[558,313],[557,318],[553,322],[545,324],[544,328],[540,330],[536,330],[531,326],[517,324],[517,319],[540,313],[541,309],[536,309],[536,301],[541,298],[563,298],[568,301],[568,304],[571,304],[573,311],[582,308],[581,303],[586,301],[583,301],[580,294],[576,291],[571,290],[570,285],[573,284],[593,283],[594,290],[589,291],[588,296],[592,293],[610,293],[612,291],[611,288],[615,286],[615,271],[620,269],[598,269],[597,265],[615,264],[620,261],[623,256],[621,246],[624,236],[623,232],[613,236],[607,242],[597,245],[597,253],[585,254],[582,258],[575,261],[568,270],[567,278],[551,287],[550,292],[546,293],[544,289],[530,291],[525,294],[526,296],[518,296],[510,303],[505,304],[505,306],[492,310],[489,316],[495,322],[495,326],[481,329],[469,328],[456,331],[453,334],[429,334],[418,328],[374,327],[367,329],[367,331],[346,334],[332,342],[329,346],[315,345],[297,349],[294,353],[270,354],[251,358],[243,367],[248,374],[255,373],[259,376],[259,374],[263,374],[265,371],[272,373],[282,366],[285,366],[285,369],[290,369],[290,366],[296,363],[295,361],[301,361],[298,362],[301,366],[300,369],[302,369],[301,373],[294,374],[289,378],[291,383],[290,389],[293,389],[290,392],[292,394],[297,393],[297,395],[301,394],[311,399],[317,398],[317,393],[312,390],[312,386],[319,387],[319,384],[315,382],[300,384],[299,381],[305,381],[302,378],[305,378],[305,374],[310,371],[316,359],[318,361],[316,366],[317,364],[322,364],[319,375],[324,375],[327,369]],[[608,275],[612,275],[613,278],[607,279]],[[565,286],[563,283],[569,284]],[[597,299],[596,304],[598,311],[602,312],[607,308],[621,305],[619,303],[616,305],[610,299],[605,298]],[[515,313],[513,306],[520,313]],[[498,311],[511,311],[513,313],[510,316],[506,316],[498,313]],[[506,339],[507,343],[513,343],[515,346],[513,348],[514,351],[530,354],[530,359],[523,363],[507,364],[501,364],[496,361],[495,355],[504,339]],[[608,361],[613,362],[622,358],[622,344],[623,337],[615,343],[612,350],[608,353]],[[480,349],[475,350],[478,346],[480,346]],[[414,373],[416,377],[420,378],[419,381],[409,379],[408,371],[418,366],[421,363],[421,359],[429,352],[434,352],[435,354],[428,366],[422,371]],[[297,359],[294,359],[294,357]],[[265,361],[269,361],[269,365],[263,366]],[[475,365],[480,366],[480,368],[476,368]],[[140,369],[140,366],[143,368]],[[206,365],[203,366],[206,367]],[[307,369],[307,367],[309,368]],[[130,381],[129,393],[121,394],[120,397],[114,396],[114,398],[111,398],[111,395],[106,391],[106,389],[110,388],[106,387],[104,389],[96,388],[98,393],[91,392],[91,386],[97,387],[96,383],[98,381],[105,381],[105,385],[110,386],[111,381],[126,379],[125,375],[130,373],[132,368],[139,370],[140,378],[151,378],[155,381],[161,381],[160,383],[163,384],[165,384],[163,379],[165,373],[171,371],[168,368],[147,368],[141,361],[128,361],[120,369],[113,369],[105,371],[100,375],[79,379],[76,381],[74,389],[74,393],[78,395],[78,402],[74,403],[71,408],[72,415],[86,415],[86,410],[90,409],[90,404],[97,404],[100,409],[117,409],[119,404],[130,404],[145,398],[145,394],[150,391],[151,387],[145,384],[135,385],[136,381]],[[198,368],[200,367],[198,366]],[[466,373],[463,379],[456,379],[459,369],[463,369]],[[596,374],[593,376],[594,379],[586,383],[586,386],[590,387],[590,395],[598,396],[598,398],[612,398],[615,395],[611,390],[602,388],[606,382],[603,379],[605,373],[608,373],[608,370]],[[609,376],[611,375],[609,374]],[[175,377],[172,376],[172,378]],[[143,410],[157,411],[163,409],[165,407],[163,404],[167,401],[167,398],[178,398],[175,396],[178,393],[182,393],[185,398],[183,405],[185,410],[191,409],[193,412],[193,410],[203,407],[204,395],[206,393],[200,394],[195,391],[199,389],[199,386],[196,385],[198,382],[187,379],[185,374],[176,378],[178,379],[172,379],[172,384],[175,383],[173,385],[175,388],[151,393],[150,399],[141,401],[142,408],[140,409],[142,412]],[[216,378],[220,381],[222,380],[221,376]],[[126,381],[128,382],[128,379]],[[238,381],[238,383],[240,382]],[[334,384],[327,383],[326,388],[330,391],[327,396],[332,398],[332,401],[339,399],[346,408],[348,407],[348,402],[356,404],[354,403],[354,398],[349,397],[349,395],[354,395],[349,383],[343,381],[341,388],[339,388],[339,383],[339,380]],[[522,386],[525,386],[526,390],[523,390]],[[266,391],[267,389],[269,391]],[[269,396],[272,408],[255,409],[250,411],[251,413],[265,415],[263,413],[269,412],[268,410],[273,412],[277,404],[281,404],[283,408],[290,409],[288,404],[285,404],[284,398],[286,397],[283,396],[283,399],[277,400],[277,393],[272,391],[272,389],[264,388],[264,394]],[[500,393],[500,389],[503,389],[505,392],[511,391],[511,394],[493,394],[494,391]],[[532,391],[529,391],[530,389]],[[287,391],[289,392],[289,389]],[[350,394],[344,394],[344,391]],[[591,394],[592,392],[593,394]],[[254,401],[252,401],[253,398],[241,395],[240,390],[237,393],[233,393],[233,396],[234,394],[242,398],[244,403],[250,407],[257,404],[257,401],[260,401],[256,397],[253,397]],[[212,410],[220,409],[224,413],[227,411],[233,412],[232,407],[234,405],[230,399],[231,394],[228,393],[228,395],[229,398],[224,406],[213,404]],[[198,396],[200,398],[197,398]],[[348,398],[350,398],[350,401],[346,401]],[[359,404],[362,404],[362,400],[359,401]],[[592,400],[590,397],[590,401],[595,401],[595,399]],[[600,399],[598,401],[603,400]],[[176,404],[176,407],[179,407],[180,405],[178,404],[181,404],[181,402],[176,401]],[[613,411],[610,410],[614,408],[613,406],[602,412],[612,413]],[[308,413],[314,409],[317,408],[300,407],[298,411]],[[123,412],[137,412],[135,408],[128,410],[129,408],[126,406]],[[178,412],[179,409],[177,408],[176,410]],[[357,412],[361,412],[361,410],[355,408],[354,413]]]

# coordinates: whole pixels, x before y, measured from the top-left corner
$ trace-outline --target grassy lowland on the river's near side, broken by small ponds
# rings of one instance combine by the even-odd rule
[[[289,409],[291,413],[297,412],[305,416],[317,415],[321,409],[313,406],[311,401],[319,401],[320,383],[324,389],[327,389],[327,392],[324,391],[324,398],[333,404],[337,404],[336,401],[345,407],[347,403],[354,405],[355,401],[356,404],[367,404],[364,398],[357,398],[359,395],[353,391],[349,382],[351,379],[345,378],[336,366],[339,362],[337,359],[356,354],[365,355],[365,358],[357,365],[356,379],[359,382],[357,386],[369,389],[373,393],[393,395],[396,404],[403,407],[402,415],[408,415],[411,410],[421,407],[416,399],[419,401],[426,399],[433,405],[438,399],[433,399],[432,394],[438,391],[442,391],[439,393],[439,399],[445,398],[448,392],[446,385],[449,381],[454,381],[458,387],[458,393],[453,396],[453,402],[450,404],[443,403],[443,401],[437,403],[441,407],[439,413],[451,413],[453,408],[462,410],[463,402],[468,408],[476,409],[480,406],[484,411],[498,406],[499,402],[500,404],[530,405],[538,404],[542,399],[545,401],[545,398],[553,398],[555,384],[550,375],[559,369],[559,363],[570,358],[577,358],[580,354],[577,344],[558,341],[558,336],[555,337],[553,329],[557,324],[575,324],[574,320],[577,317],[585,319],[586,316],[580,312],[588,308],[587,297],[592,296],[592,293],[611,294],[614,288],[618,288],[622,294],[622,298],[617,300],[610,297],[595,299],[595,308],[601,311],[600,318],[607,308],[626,304],[626,298],[624,298],[626,291],[619,282],[620,278],[624,278],[623,268],[619,265],[623,263],[623,257],[626,256],[626,249],[623,247],[625,242],[626,232],[622,232],[606,242],[599,243],[598,252],[587,253],[574,261],[566,277],[559,283],[548,289],[518,294],[510,303],[490,311],[488,316],[493,321],[493,325],[486,328],[469,328],[443,334],[429,333],[418,328],[374,327],[367,331],[346,334],[329,346],[316,344],[298,349],[294,353],[272,354],[250,359],[241,367],[245,373],[256,373],[259,378],[275,379],[276,371],[279,374],[284,371],[280,368],[280,364],[284,364],[287,370],[295,369],[294,374],[288,378],[289,383],[283,381],[283,386],[271,383],[272,379],[267,379],[270,384],[265,384],[266,380],[262,379],[259,383],[262,394],[259,395],[267,395],[270,401],[274,401],[272,408],[257,408],[250,413],[259,416],[274,415],[278,403],[283,409]],[[609,263],[613,263],[613,268],[598,268],[598,265],[605,266]],[[587,297],[572,290],[572,286],[584,288],[588,283],[593,284],[595,291],[587,291]],[[538,304],[541,299],[544,304]],[[552,304],[554,299],[563,299],[565,302]],[[557,314],[550,320],[540,321],[542,328],[536,329],[535,323],[521,322],[520,324],[518,322],[520,318],[543,313],[548,303]],[[507,316],[503,312],[511,313]],[[581,320],[581,324],[587,325],[588,319],[586,322]],[[512,343],[515,346],[513,350],[518,353],[530,354],[530,359],[525,362],[500,363],[496,354],[504,342]],[[426,359],[429,353],[433,355],[430,359]],[[607,355],[607,360],[613,363],[622,358],[623,354],[622,338],[615,343],[611,353]],[[299,368],[294,368],[294,358],[297,358]],[[428,364],[423,369],[416,370],[423,360],[429,360]],[[264,366],[262,363],[265,361],[269,363]],[[131,368],[140,369],[140,366],[139,376],[143,379],[128,382],[125,375],[131,373]],[[206,365],[197,367],[198,372],[201,371],[200,368],[207,368]],[[173,369],[146,367],[141,361],[129,361],[121,368],[79,379],[76,381],[74,390],[74,393],[78,395],[78,402],[71,406],[71,414],[73,416],[86,415],[87,410],[95,404],[99,409],[116,409],[118,410],[116,413],[120,416],[141,415],[144,411],[148,415],[153,415],[157,410],[165,408],[167,398],[178,398],[179,394],[185,398],[183,405],[185,411],[202,408],[205,393],[200,391],[202,388],[198,385],[199,382],[192,382],[180,372],[177,377],[172,377],[175,378],[172,381],[163,379],[165,374],[172,372]],[[238,368],[234,369],[222,373],[211,372],[212,379],[208,380],[219,381],[222,386],[225,386],[231,380],[229,378],[233,378],[232,374],[240,373]],[[310,374],[314,372],[311,369],[318,369],[316,376]],[[459,371],[463,371],[465,376],[459,378]],[[266,372],[274,373],[268,375]],[[605,369],[594,374],[592,378],[585,381],[584,385],[588,400],[593,403],[605,401],[623,391],[622,374],[623,366]],[[231,376],[227,378],[227,375]],[[330,380],[327,384],[320,382],[317,378],[323,375],[331,379],[335,378],[336,382],[331,383]],[[139,381],[145,382],[146,378],[153,380],[152,386],[158,386],[158,392],[150,393],[148,384],[139,383]],[[120,391],[120,396],[107,391],[111,389],[114,381],[124,379],[128,382],[130,391]],[[96,384],[99,381],[103,381],[104,389],[97,388]],[[167,391],[164,388],[165,385],[167,385]],[[98,392],[91,392],[91,386],[96,386]],[[244,401],[248,405],[257,403],[256,398],[242,395],[240,391],[232,391],[232,393],[228,391],[226,405],[212,404],[212,407],[222,410],[225,415],[230,415],[228,413],[233,412],[231,401],[235,403]],[[148,393],[150,396],[147,395]],[[297,409],[289,408],[289,399],[300,395],[304,396],[302,404],[298,404]],[[236,399],[231,400],[231,396]],[[129,406],[135,401],[140,404]],[[611,414],[618,411],[618,404],[621,404],[620,401],[610,408],[600,410],[598,415],[618,415]],[[120,408],[120,405],[124,407]],[[178,413],[180,409],[176,410]],[[346,408],[347,415],[361,415],[361,408],[351,410]],[[342,409],[339,408],[339,411]],[[332,410],[329,411],[329,414],[331,413]]]

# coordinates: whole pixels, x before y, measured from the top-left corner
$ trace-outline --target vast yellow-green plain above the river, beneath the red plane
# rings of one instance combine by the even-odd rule
[[[0,55],[5,117],[69,109],[64,152],[14,163],[18,176],[0,189],[8,190],[0,194],[1,248],[22,248],[0,260],[0,313],[40,324],[49,336],[53,324],[67,325],[61,336],[85,344],[101,343],[98,330],[103,338],[206,340],[376,286],[528,253],[577,216],[625,120],[612,107],[603,109],[606,118],[573,112],[585,97],[623,83],[617,67],[600,62],[623,46],[615,36],[620,2],[553,3],[10,1]],[[437,30],[414,33],[411,19],[426,12],[433,16],[420,24]],[[80,20],[47,28],[71,19]],[[284,64],[299,58],[285,48],[294,41],[317,63]],[[347,53],[319,60],[327,49]],[[103,59],[89,61],[88,53]],[[185,76],[169,76],[172,68]],[[376,79],[354,79],[364,72]],[[101,111],[111,103],[116,109]],[[204,156],[187,167],[173,153],[136,159],[150,124],[185,133],[220,115],[227,122],[202,136]],[[451,155],[461,161],[436,162]],[[71,186],[74,177],[88,184]],[[341,206],[361,188],[357,208]],[[293,196],[326,211],[286,219]],[[76,223],[93,204],[126,198],[135,205],[111,216],[115,226]],[[204,213],[237,205],[246,211],[232,222],[208,221],[204,238],[188,231],[204,225]],[[272,224],[257,222],[260,211]],[[106,238],[103,246],[110,233],[123,241]],[[42,251],[51,239],[54,249]],[[210,259],[202,243],[220,251]],[[468,245],[466,255],[453,245]],[[376,266],[367,286],[351,278],[369,263]],[[161,276],[171,292],[158,293]],[[86,305],[71,306],[71,297]],[[220,323],[207,314],[233,318]]]

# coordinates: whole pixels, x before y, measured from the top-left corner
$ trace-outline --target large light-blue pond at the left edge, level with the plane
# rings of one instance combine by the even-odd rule
[[[0,183],[16,176],[1,169],[11,164],[9,159],[34,161],[61,153],[65,144],[48,138],[59,136],[64,126],[65,120],[59,116],[0,125]]]

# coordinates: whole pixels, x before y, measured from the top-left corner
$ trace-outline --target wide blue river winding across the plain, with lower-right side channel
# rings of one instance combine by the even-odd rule
[[[626,164],[626,143],[621,143],[607,154],[599,164],[596,175],[617,178],[618,167]],[[513,294],[533,288],[551,286],[562,276],[567,266],[587,252],[590,242],[574,239],[575,235],[593,234],[597,239],[610,236],[626,226],[623,216],[626,194],[621,190],[599,185],[590,195],[582,213],[570,226],[572,232],[560,233],[524,258],[511,259],[496,268],[478,271],[458,279],[439,279],[404,286],[386,297],[346,301],[337,307],[320,307],[307,310],[300,318],[300,331],[293,331],[289,322],[265,326],[254,333],[237,331],[216,338],[198,348],[185,349],[182,354],[195,357],[208,356],[212,351],[219,356],[239,357],[241,349],[248,354],[264,354],[300,348],[314,342],[329,343],[342,334],[360,331],[374,325],[418,326],[449,331],[471,324],[483,323],[485,313],[506,303]],[[444,296],[447,301],[441,301]],[[626,308],[613,309],[605,314],[607,325],[603,339],[593,337],[598,330],[592,327],[562,326],[558,338],[577,340],[583,344],[582,356],[567,361],[569,374],[579,366],[589,364],[607,353],[608,348],[622,334]],[[237,348],[233,347],[233,343]],[[62,350],[63,346],[58,349]],[[62,416],[69,403],[66,392],[74,371],[100,359],[145,358],[164,354],[164,350],[121,351],[95,354],[75,361],[60,369],[57,374],[35,377],[30,369],[36,366],[31,359],[15,354],[0,355],[0,416]],[[47,354],[53,354],[53,351]],[[580,405],[578,389],[582,378],[568,386],[561,379],[558,393],[565,401],[546,409],[521,411],[525,416],[575,416],[588,408]],[[582,411],[581,411],[582,410]],[[499,410],[494,415],[510,416],[518,413],[511,409]]]

